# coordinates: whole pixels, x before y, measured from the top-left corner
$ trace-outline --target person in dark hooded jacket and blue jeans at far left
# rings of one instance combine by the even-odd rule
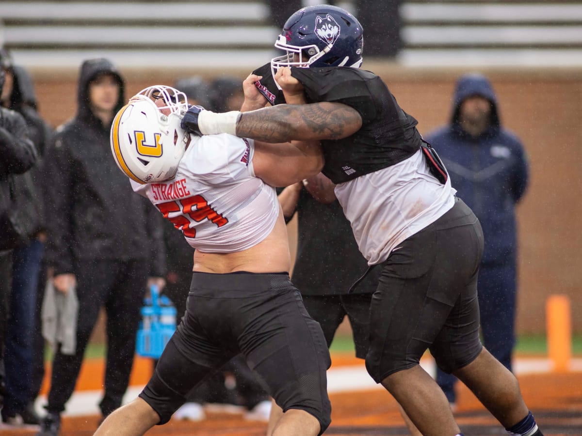
[[[46,240],[41,195],[42,156],[50,140],[51,128],[38,115],[33,83],[26,70],[13,65],[10,54],[5,50],[0,51],[0,65],[7,78],[0,103],[24,117],[29,137],[39,156],[32,169],[14,176],[17,195],[26,201],[26,215],[21,219],[26,220],[29,230],[26,238],[12,252],[12,294],[5,352],[6,396],[2,421],[19,426],[38,424],[34,402],[31,401],[31,371],[38,278]]]

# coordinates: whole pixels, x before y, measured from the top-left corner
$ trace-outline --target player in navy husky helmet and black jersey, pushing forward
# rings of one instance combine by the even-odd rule
[[[422,434],[462,434],[419,364],[429,349],[510,434],[542,435],[516,378],[479,339],[480,223],[455,196],[417,121],[380,77],[359,69],[360,23],[335,6],[310,6],[289,18],[275,47],[286,54],[244,82],[242,113],[191,108],[182,126],[268,142],[320,140],[322,173],[368,265],[381,267],[370,306],[370,376]]]

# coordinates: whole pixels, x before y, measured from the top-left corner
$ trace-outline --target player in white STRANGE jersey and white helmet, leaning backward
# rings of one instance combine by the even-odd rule
[[[289,280],[288,237],[272,187],[317,174],[320,146],[186,133],[185,102],[173,88],[146,88],[113,121],[112,153],[133,190],[196,251],[186,314],[151,380],[96,434],[140,435],[166,423],[198,382],[238,353],[285,410],[272,434],[321,434],[331,420],[331,360]]]

